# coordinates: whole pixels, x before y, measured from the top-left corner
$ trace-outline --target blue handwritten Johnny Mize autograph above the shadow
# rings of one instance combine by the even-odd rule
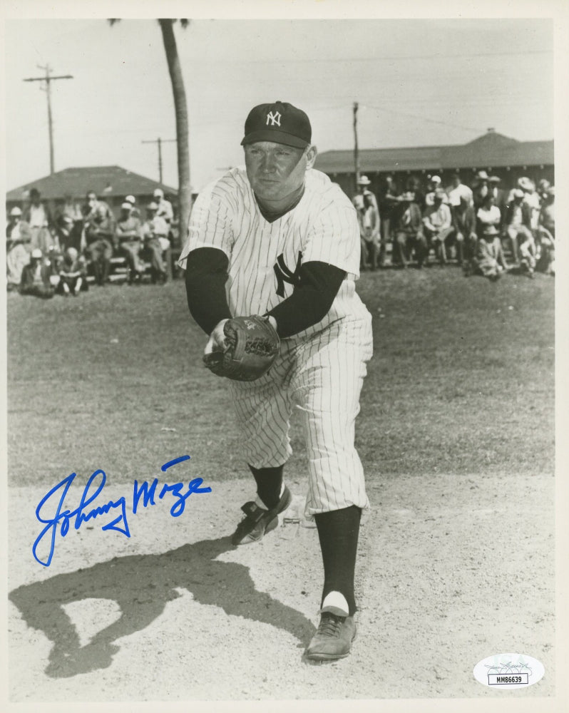
[[[164,465],[160,467],[160,470],[165,473],[168,468],[175,466],[177,463],[189,460],[190,456],[180,456],[179,458],[174,458],[173,461],[164,463]],[[71,483],[73,483],[76,477],[77,473],[71,473],[71,475],[67,476],[67,478],[63,478],[61,483],[57,483],[56,486],[53,486],[53,488],[51,488],[51,490],[48,491],[43,498],[41,498],[41,501],[36,508],[36,518],[39,522],[46,523],[46,526],[37,536],[31,551],[34,553],[36,561],[44,567],[49,567],[49,565],[51,565],[53,550],[55,550],[56,546],[58,525],[59,534],[61,537],[65,537],[69,531],[73,518],[73,527],[78,530],[81,525],[88,522],[88,520],[93,520],[99,515],[107,515],[112,511],[113,515],[118,513],[118,516],[111,520],[111,522],[103,525],[101,530],[116,530],[117,532],[130,537],[128,520],[126,519],[126,499],[124,496],[118,498],[117,501],[110,500],[108,503],[105,503],[105,505],[99,505],[88,509],[88,506],[90,506],[91,503],[93,503],[93,501],[98,497],[106,483],[106,473],[105,471],[101,471],[101,469],[96,470],[88,479],[87,484],[83,489],[83,493],[81,494],[81,501],[79,501],[75,510],[62,509],[69,488],[71,488]],[[148,505],[155,505],[156,497],[158,497],[159,500],[162,500],[165,495],[172,493],[175,498],[175,503],[170,508],[170,515],[172,515],[173,518],[178,518],[184,512],[185,501],[190,497],[190,495],[193,493],[211,493],[211,488],[207,486],[203,488],[201,487],[203,478],[194,478],[188,483],[187,486],[185,483],[173,483],[173,485],[164,483],[162,488],[160,488],[160,491],[158,491],[157,496],[156,491],[158,488],[158,482],[158,478],[154,478],[150,485],[148,484],[148,481],[143,481],[139,486],[138,481],[134,481],[132,506],[133,515],[136,515],[136,511],[140,505],[140,498],[142,498],[143,508],[146,508]],[[53,503],[57,503],[54,513]],[[44,538],[50,538],[49,553],[46,560],[40,559],[37,553],[38,547],[40,543],[43,542]]]

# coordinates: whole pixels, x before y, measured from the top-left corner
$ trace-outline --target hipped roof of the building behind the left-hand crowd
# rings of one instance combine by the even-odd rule
[[[83,198],[88,190],[94,190],[101,198],[124,195],[150,195],[156,188],[164,193],[176,194],[175,188],[145,176],[128,171],[121,166],[83,166],[65,168],[52,175],[31,181],[6,193],[6,200],[22,200],[26,191],[37,188],[41,198],[53,200],[69,193],[73,198]]]

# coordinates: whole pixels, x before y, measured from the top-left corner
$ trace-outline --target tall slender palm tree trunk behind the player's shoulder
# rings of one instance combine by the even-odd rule
[[[188,127],[188,103],[185,98],[184,78],[178,56],[178,47],[174,36],[173,20],[158,20],[162,30],[162,39],[168,61],[168,71],[172,82],[174,108],[176,113],[176,141],[178,146],[178,210],[180,219],[180,242],[185,242],[185,235],[192,207],[190,187],[190,145]]]

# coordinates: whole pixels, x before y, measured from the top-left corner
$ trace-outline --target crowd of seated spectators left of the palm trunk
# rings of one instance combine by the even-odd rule
[[[108,204],[89,191],[83,205],[67,195],[52,215],[33,188],[29,205],[9,212],[8,289],[43,298],[76,296],[89,282],[108,284],[113,257],[125,261],[129,284],[140,283],[146,272],[153,282],[164,284],[175,230],[172,204],[160,188],[144,217],[135,204],[133,195],[126,196],[116,220]]]

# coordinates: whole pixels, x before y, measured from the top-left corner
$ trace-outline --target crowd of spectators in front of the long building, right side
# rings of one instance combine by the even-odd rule
[[[419,269],[456,262],[464,275],[496,280],[505,272],[555,275],[555,187],[527,176],[509,189],[481,170],[472,185],[458,172],[446,188],[438,175],[425,187],[411,176],[403,188],[387,178],[379,195],[362,175],[354,207],[362,240],[362,270],[391,265]]]

